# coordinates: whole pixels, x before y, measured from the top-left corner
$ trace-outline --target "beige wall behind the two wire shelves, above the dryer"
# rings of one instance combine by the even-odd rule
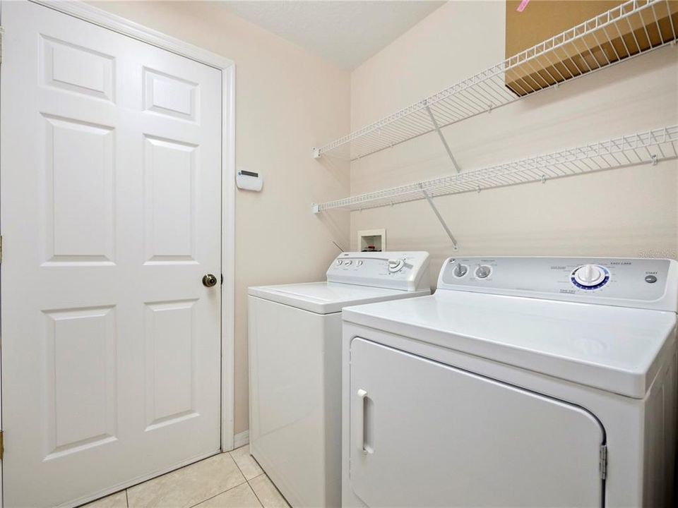
[[[359,128],[504,59],[503,1],[451,1],[357,68]],[[477,169],[678,123],[678,49],[667,47],[449,126],[463,169]],[[462,255],[609,255],[676,258],[677,163],[436,198]],[[432,133],[352,164],[352,193],[453,171]],[[388,249],[429,250],[432,284],[451,243],[426,202],[351,214],[386,227]]]

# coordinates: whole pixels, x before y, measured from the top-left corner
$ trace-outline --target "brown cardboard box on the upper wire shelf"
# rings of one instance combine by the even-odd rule
[[[678,1],[666,0],[599,28],[590,35],[573,40],[567,37],[569,42],[564,44],[559,40],[553,49],[548,46],[550,50],[542,56],[526,61],[513,58],[535,44],[624,3],[619,0],[531,0],[523,12],[518,12],[516,9],[521,2],[507,0],[506,58],[511,60],[511,68],[506,71],[506,86],[517,95],[528,95],[676,39]],[[632,5],[627,6],[624,11],[628,12],[631,8]],[[604,23],[607,17],[599,20]],[[587,25],[585,31],[593,26]]]

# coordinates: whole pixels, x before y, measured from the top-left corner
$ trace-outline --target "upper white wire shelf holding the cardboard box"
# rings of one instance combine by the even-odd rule
[[[314,157],[365,157],[672,44],[677,32],[677,1],[626,1],[471,78],[314,148]]]

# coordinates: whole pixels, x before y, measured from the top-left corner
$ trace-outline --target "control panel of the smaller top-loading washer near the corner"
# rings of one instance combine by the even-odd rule
[[[327,269],[327,282],[419,291],[429,288],[429,253],[341,253]]]

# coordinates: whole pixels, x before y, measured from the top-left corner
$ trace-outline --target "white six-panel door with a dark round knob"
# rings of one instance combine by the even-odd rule
[[[221,73],[3,1],[4,506],[220,447]]]

